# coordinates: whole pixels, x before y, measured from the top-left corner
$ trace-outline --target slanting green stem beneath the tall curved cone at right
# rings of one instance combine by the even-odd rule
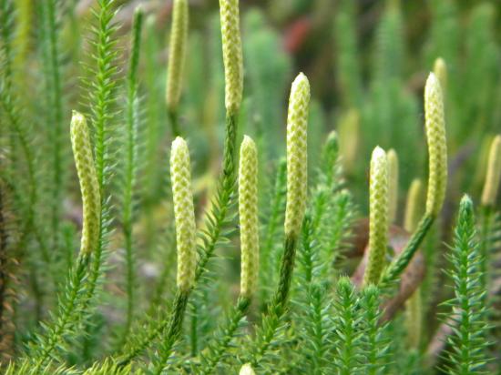
[[[419,222],[413,236],[407,242],[404,250],[400,253],[398,258],[394,259],[390,265],[384,269],[383,275],[379,281],[379,287],[385,289],[391,286],[394,281],[404,272],[407,265],[414,257],[414,253],[421,246],[424,237],[432,228],[432,224],[435,221],[435,216],[430,214],[425,214],[424,217]]]

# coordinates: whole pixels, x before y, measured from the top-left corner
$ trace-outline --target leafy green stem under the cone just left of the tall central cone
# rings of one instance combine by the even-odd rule
[[[205,358],[203,368],[200,374],[208,375],[214,371],[222,356],[228,350],[230,341],[235,336],[235,332],[239,329],[241,320],[247,314],[247,310],[251,306],[251,299],[240,297],[236,306],[230,311],[230,315],[219,332],[214,335],[213,342],[209,344],[210,354]]]

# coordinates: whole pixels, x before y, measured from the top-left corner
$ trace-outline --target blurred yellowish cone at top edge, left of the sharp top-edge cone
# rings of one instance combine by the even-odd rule
[[[188,0],[173,2],[170,27],[169,63],[166,102],[169,111],[172,136],[179,137],[179,98],[188,45],[189,6]]]

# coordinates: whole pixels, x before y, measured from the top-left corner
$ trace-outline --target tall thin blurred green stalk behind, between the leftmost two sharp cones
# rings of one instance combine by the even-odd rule
[[[135,306],[135,259],[133,252],[133,191],[137,175],[137,144],[138,144],[138,63],[141,45],[141,30],[143,25],[143,11],[140,7],[136,9],[134,15],[134,25],[132,28],[132,47],[128,67],[128,100],[127,100],[127,141],[126,141],[126,166],[125,166],[125,186],[123,195],[122,226],[126,250],[127,275],[127,318],[122,341],[126,340],[132,319],[134,317]]]

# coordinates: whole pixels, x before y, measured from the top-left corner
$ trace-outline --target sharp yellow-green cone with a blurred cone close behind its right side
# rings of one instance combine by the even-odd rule
[[[373,150],[370,185],[369,258],[363,274],[365,286],[379,282],[388,246],[388,160],[381,147]]]

